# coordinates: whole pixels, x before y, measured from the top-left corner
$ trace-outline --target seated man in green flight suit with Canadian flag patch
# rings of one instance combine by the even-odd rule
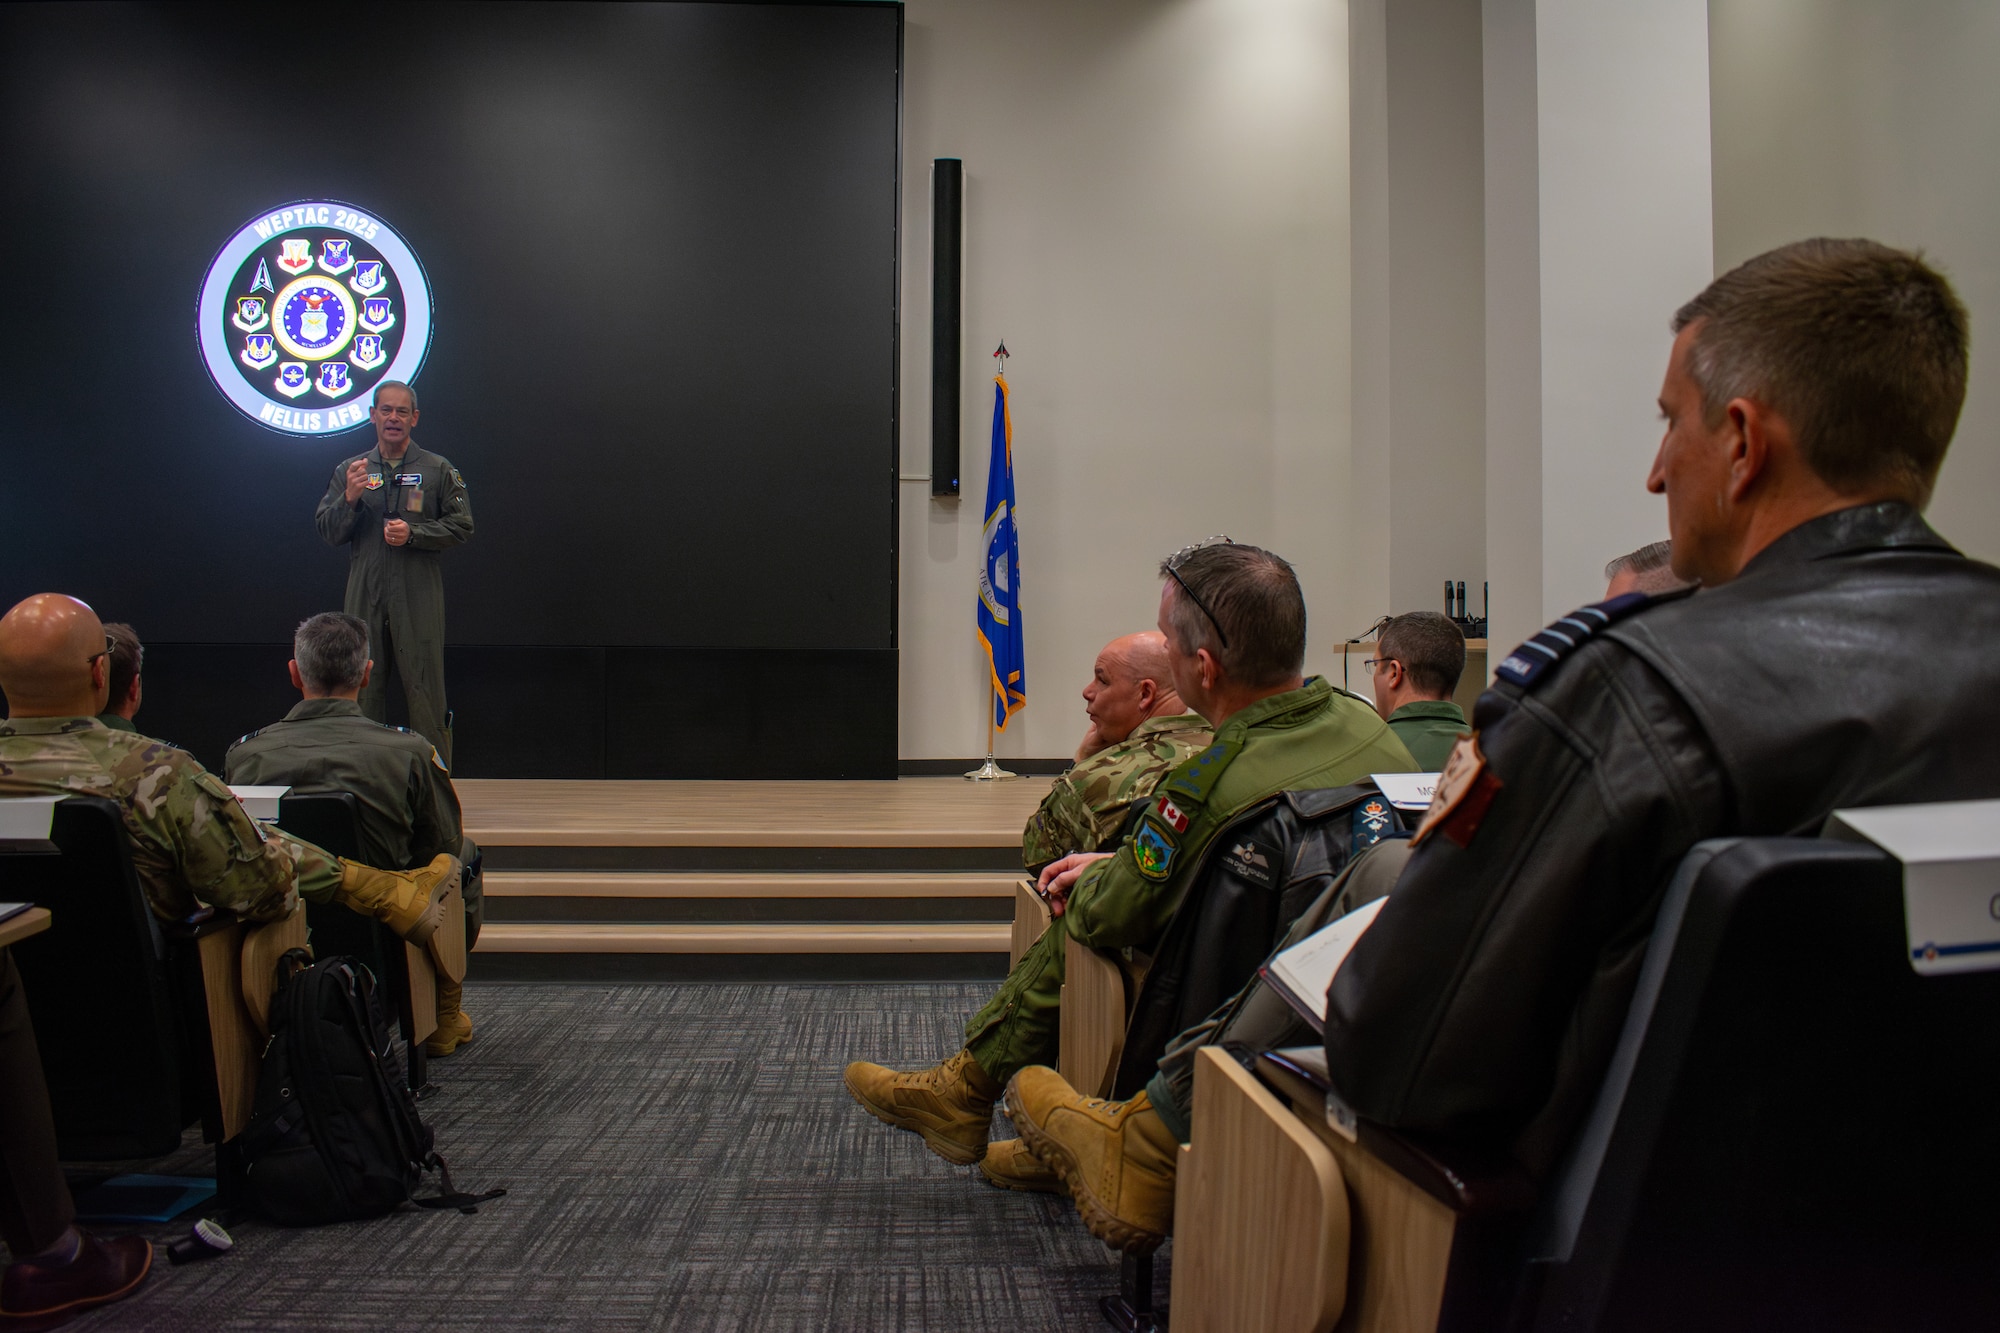
[[[1068,939],[1152,953],[1216,831],[1282,791],[1346,787],[1370,773],[1416,769],[1410,751],[1358,699],[1304,679],[1306,600],[1292,566],[1258,546],[1218,538],[1160,564],[1160,632],[1176,693],[1214,727],[1214,743],[1160,787],[1116,853],[1048,865],[1040,891],[1054,923],[966,1025],[966,1047],[932,1069],[848,1065],[846,1085],[880,1121],[922,1135],[950,1163],[980,1161],[996,1185],[1050,1189],[1020,1141],[988,1145],[1006,1081],[1056,1051],[1060,971]]]

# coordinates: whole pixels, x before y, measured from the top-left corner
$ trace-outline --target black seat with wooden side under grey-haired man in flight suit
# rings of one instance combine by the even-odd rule
[[[278,827],[336,857],[360,859],[362,813],[350,791],[286,793],[278,799]],[[360,959],[382,983],[396,1005],[410,1089],[422,1093],[430,1083],[424,1039],[438,1031],[438,983],[430,955],[406,945],[382,923],[334,903],[308,903],[306,921],[316,957]],[[464,931],[462,907],[458,921]]]

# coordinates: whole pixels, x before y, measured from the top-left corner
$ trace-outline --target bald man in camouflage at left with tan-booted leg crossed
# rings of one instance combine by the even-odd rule
[[[206,907],[252,921],[298,897],[342,903],[424,945],[438,929],[458,859],[390,873],[328,857],[256,823],[186,751],[112,731],[110,634],[84,602],[42,592],[0,616],[0,797],[106,797],[124,813],[132,863],[152,911],[178,921]]]

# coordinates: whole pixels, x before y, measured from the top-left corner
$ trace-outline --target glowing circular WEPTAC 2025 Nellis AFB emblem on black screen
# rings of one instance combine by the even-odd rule
[[[430,350],[430,284],[386,222],[350,204],[250,218],[202,280],[196,336],[222,396],[286,434],[368,420],[382,380],[414,380]]]

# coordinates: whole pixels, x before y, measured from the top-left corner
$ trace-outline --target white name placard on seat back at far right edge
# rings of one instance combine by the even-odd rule
[[[1834,811],[1826,835],[1902,861],[1910,967],[1924,975],[2000,969],[2000,801]]]

